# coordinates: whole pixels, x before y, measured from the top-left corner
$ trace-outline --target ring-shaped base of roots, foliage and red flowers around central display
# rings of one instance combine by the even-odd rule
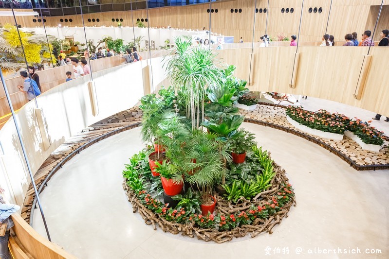
[[[259,151],[262,152],[260,149]],[[285,171],[268,155],[255,158],[257,149],[252,159],[257,159],[258,164],[270,163],[271,172],[274,171],[266,190],[253,193],[251,199],[241,197],[236,202],[228,201],[227,194],[224,198],[215,193],[215,213],[206,216],[195,208],[195,198],[192,199],[195,202],[192,202],[191,206],[179,203],[177,207],[168,207],[162,202],[160,178],[151,176],[147,163],[149,152],[144,150],[130,158],[130,164],[127,164],[126,170],[123,171],[123,188],[132,203],[133,211],[138,211],[146,224],[153,225],[154,230],[156,225],[159,225],[164,232],[181,233],[191,238],[197,236],[198,239],[217,243],[243,237],[248,233],[251,233],[251,237],[264,231],[271,234],[274,225],[280,223],[295,203],[295,194]],[[266,151],[262,152],[264,153]],[[189,189],[190,193],[192,190]]]

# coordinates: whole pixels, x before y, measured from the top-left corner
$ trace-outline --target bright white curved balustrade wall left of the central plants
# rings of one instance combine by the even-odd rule
[[[155,68],[153,86],[150,84],[148,63]],[[94,72],[95,98],[99,110],[96,116],[92,112],[89,76],[71,80],[38,96],[37,104],[43,110],[47,135],[51,139],[47,149],[40,133],[35,102],[24,105],[16,117],[33,173],[65,138],[94,122],[134,106],[143,95],[164,83],[168,84],[161,66],[160,57]],[[7,190],[9,201],[21,205],[30,180],[12,118],[0,131],[0,143],[4,151],[0,159],[1,187]]]

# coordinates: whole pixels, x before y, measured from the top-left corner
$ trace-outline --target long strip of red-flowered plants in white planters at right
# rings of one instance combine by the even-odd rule
[[[292,120],[311,129],[335,134],[344,134],[345,130],[348,130],[357,136],[361,143],[379,146],[384,143],[384,140],[381,138],[383,132],[370,126],[369,123],[371,121],[363,122],[357,118],[351,120],[343,114],[329,113],[326,110],[311,112],[295,106],[289,106],[286,109],[286,114]],[[358,141],[356,142],[359,143]],[[360,145],[362,148],[368,147]]]

